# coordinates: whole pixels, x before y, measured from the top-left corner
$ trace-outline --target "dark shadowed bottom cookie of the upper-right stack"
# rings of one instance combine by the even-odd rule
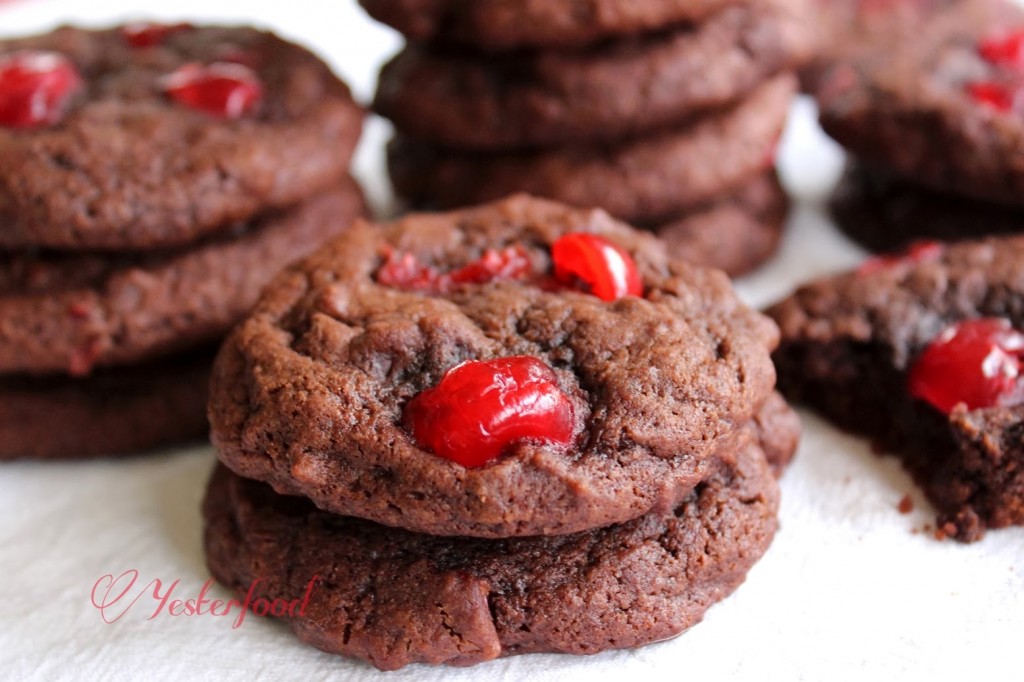
[[[1024,232],[1022,207],[935,191],[862,164],[847,168],[831,211],[843,231],[871,251]]]

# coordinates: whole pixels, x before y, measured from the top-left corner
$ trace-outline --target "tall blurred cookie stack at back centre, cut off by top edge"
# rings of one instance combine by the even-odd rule
[[[375,110],[397,193],[601,207],[674,257],[752,269],[786,198],[774,153],[812,44],[804,0],[361,0],[410,45]]]

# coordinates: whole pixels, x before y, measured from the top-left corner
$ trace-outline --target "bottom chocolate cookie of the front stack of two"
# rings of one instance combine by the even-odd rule
[[[210,571],[240,596],[305,601],[303,641],[381,670],[589,654],[675,637],[736,589],[775,532],[756,441],[667,513],[570,536],[438,538],[316,510],[223,467],[203,507]],[[318,587],[305,599],[310,582]]]

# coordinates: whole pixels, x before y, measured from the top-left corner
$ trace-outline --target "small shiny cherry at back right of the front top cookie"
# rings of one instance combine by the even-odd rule
[[[551,248],[555,280],[560,284],[614,301],[624,296],[643,296],[643,283],[636,263],[624,249],[608,240],[573,232]]]

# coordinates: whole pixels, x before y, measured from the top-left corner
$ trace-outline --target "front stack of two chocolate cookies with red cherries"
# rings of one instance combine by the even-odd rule
[[[218,356],[210,570],[380,669],[675,636],[774,534],[777,339],[602,211],[357,223]]]

